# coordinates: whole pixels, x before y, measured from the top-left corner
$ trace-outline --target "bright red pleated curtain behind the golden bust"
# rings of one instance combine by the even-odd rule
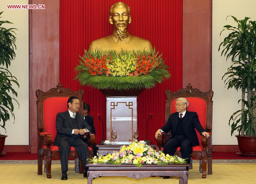
[[[109,8],[117,0],[61,0],[60,1],[60,82],[74,91],[84,90],[84,102],[89,103],[94,117],[96,141],[102,139],[106,126],[106,98],[97,89],[81,86],[74,80],[74,68],[79,55],[84,54],[93,40],[108,36],[112,27],[108,22]],[[138,140],[156,142],[154,134],[165,124],[165,90],[182,88],[182,0],[123,0],[131,8],[132,23],[129,32],[149,40],[163,53],[172,77],[146,89],[138,96]],[[106,130],[104,128],[104,130]],[[104,137],[106,134],[104,133]]]

